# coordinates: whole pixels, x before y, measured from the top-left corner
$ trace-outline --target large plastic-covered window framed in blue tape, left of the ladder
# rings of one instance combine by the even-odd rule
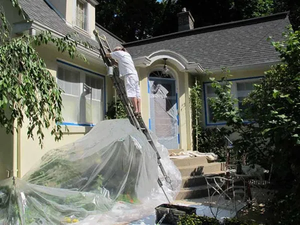
[[[71,66],[58,65],[65,122],[95,124],[104,119],[104,77]]]

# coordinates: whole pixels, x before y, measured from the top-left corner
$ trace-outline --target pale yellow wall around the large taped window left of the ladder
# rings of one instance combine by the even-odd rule
[[[50,45],[47,46],[40,46],[38,47],[38,52],[40,56],[45,60],[46,66],[51,72],[53,76],[56,76],[56,69],[57,69],[57,62],[56,58],[60,60],[65,60],[66,62],[75,64],[81,68],[86,68],[88,70],[92,70],[97,73],[105,74],[106,69],[103,64],[100,64],[98,59],[91,59],[88,60],[88,63],[85,63],[81,59],[74,59],[71,60],[66,54],[58,53],[55,48]],[[88,57],[87,57],[88,59]],[[111,99],[112,85],[111,81],[108,77],[105,78],[106,80],[106,102],[107,99]],[[84,127],[84,126],[68,126],[69,132],[64,133],[62,140],[59,142],[54,141],[54,137],[50,135],[50,130],[44,129],[44,140],[43,149],[40,149],[38,145],[38,140],[34,138],[28,139],[27,138],[27,130],[26,130],[26,123],[28,121],[24,121],[24,125],[20,132],[20,176],[23,176],[39,159],[40,157],[47,152],[48,150],[62,146],[64,144],[70,143],[75,141],[76,139],[82,137],[85,133],[87,133],[91,127]],[[2,135],[1,135],[2,136]]]

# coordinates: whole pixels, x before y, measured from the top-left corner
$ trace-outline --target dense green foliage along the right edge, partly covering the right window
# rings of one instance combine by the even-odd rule
[[[272,42],[282,63],[265,72],[260,84],[243,100],[244,112],[255,123],[245,124],[234,108],[230,83],[214,81],[217,94],[210,99],[214,120],[225,120],[239,138],[235,147],[250,163],[270,168],[278,191],[272,209],[274,221],[299,224],[300,200],[300,31],[291,29],[284,40]],[[228,85],[229,83],[229,85]]]

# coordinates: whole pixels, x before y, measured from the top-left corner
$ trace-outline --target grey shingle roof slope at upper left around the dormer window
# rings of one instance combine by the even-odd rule
[[[74,37],[75,40],[88,42],[94,50],[99,48],[97,41],[68,26],[65,20],[62,19],[44,0],[18,0],[18,2],[30,19],[33,19],[34,21],[37,21],[63,35],[77,32],[78,36]],[[116,45],[120,45],[122,42],[113,34],[111,35],[109,31],[103,27],[98,26],[96,29],[99,31],[99,34],[104,34],[109,42],[115,43]]]

